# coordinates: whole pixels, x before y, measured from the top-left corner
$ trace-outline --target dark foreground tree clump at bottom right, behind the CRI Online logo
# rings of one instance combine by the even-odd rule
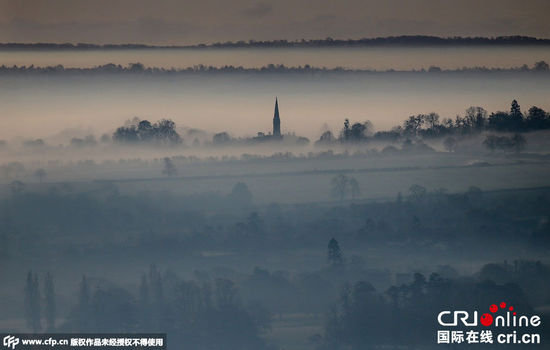
[[[538,277],[547,278],[548,268],[538,264],[546,270]],[[340,302],[329,313],[324,335],[314,339],[320,350],[431,346],[440,329],[436,321],[439,312],[448,310],[450,305],[469,312],[488,311],[489,305],[500,300],[521,310],[522,315],[533,314],[523,289],[510,281],[497,284],[493,280],[445,278],[437,273],[426,278],[415,273],[412,282],[384,292],[377,292],[368,281],[357,281],[342,288]],[[541,329],[529,327],[524,331]]]

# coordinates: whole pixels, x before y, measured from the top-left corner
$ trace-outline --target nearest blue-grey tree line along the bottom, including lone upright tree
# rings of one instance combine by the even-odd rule
[[[377,290],[368,278],[353,273],[356,263],[344,261],[335,239],[329,242],[328,258],[328,268],[294,278],[285,271],[255,268],[240,283],[206,271],[184,280],[155,265],[134,289],[83,277],[76,302],[57,329],[167,332],[171,344],[194,349],[264,349],[261,336],[270,328],[271,312],[325,310],[323,334],[311,338],[319,349],[414,347],[433,344],[437,314],[450,306],[483,311],[506,301],[521,315],[531,315],[533,305],[550,297],[550,269],[540,261],[492,263],[460,277],[450,267],[429,275],[414,273],[405,283]],[[33,279],[31,274],[31,285]],[[548,330],[532,331],[548,336]]]

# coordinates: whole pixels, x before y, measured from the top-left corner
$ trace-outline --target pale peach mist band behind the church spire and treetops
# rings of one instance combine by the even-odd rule
[[[170,118],[179,127],[253,136],[270,130],[276,96],[283,131],[314,139],[323,128],[336,132],[344,118],[370,120],[383,130],[419,113],[454,119],[469,106],[506,110],[514,98],[548,110],[549,90],[547,73],[515,71],[5,74],[0,103],[10,128],[0,130],[0,139],[34,137],[57,144],[73,134],[112,133],[133,117]]]

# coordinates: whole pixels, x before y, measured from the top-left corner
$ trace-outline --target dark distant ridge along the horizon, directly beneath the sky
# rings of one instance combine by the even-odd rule
[[[246,47],[368,47],[368,46],[530,46],[550,45],[550,39],[529,36],[499,37],[449,37],[426,35],[402,35],[363,39],[315,39],[315,40],[270,40],[270,41],[227,41],[198,45],[144,45],[144,44],[86,44],[86,43],[0,43],[0,50],[42,49],[42,50],[112,50],[112,49],[186,49],[186,48],[246,48]]]

